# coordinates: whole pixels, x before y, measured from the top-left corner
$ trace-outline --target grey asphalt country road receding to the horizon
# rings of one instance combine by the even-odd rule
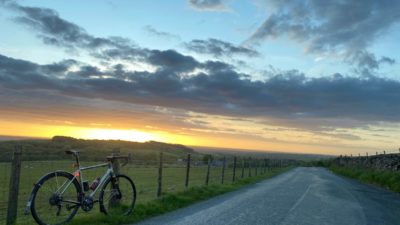
[[[140,225],[400,224],[400,195],[334,175],[296,168],[241,190]]]

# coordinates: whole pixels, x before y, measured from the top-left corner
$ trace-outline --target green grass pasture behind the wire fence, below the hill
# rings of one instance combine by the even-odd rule
[[[163,193],[177,193],[185,190],[186,162],[168,161],[164,162],[163,167]],[[207,166],[201,161],[193,161],[190,169],[189,187],[204,186]],[[96,162],[83,162],[83,165],[93,165]],[[146,203],[156,199],[157,192],[157,174],[158,168],[156,162],[146,162],[147,165],[140,165],[139,162],[133,162],[121,168],[121,173],[130,176],[137,188],[137,202]],[[33,184],[44,174],[54,170],[73,171],[72,161],[28,161],[23,162],[21,170],[21,180],[18,198],[18,220],[17,224],[33,224],[31,216],[23,215],[25,204],[29,198]],[[209,184],[221,183],[222,167],[212,166],[210,170]],[[104,168],[87,171],[84,173],[84,180],[91,182],[97,176],[101,176]],[[258,173],[261,168],[258,168]],[[252,169],[254,176],[255,169]],[[225,183],[232,183],[232,167],[227,166],[225,170]],[[236,177],[241,176],[241,168],[237,168]],[[8,184],[10,180],[10,163],[0,163],[0,223],[5,221],[6,208],[8,201]],[[244,173],[248,176],[248,169]],[[98,211],[95,208],[94,211]],[[93,212],[93,211],[92,211]],[[92,213],[88,213],[89,215]],[[85,217],[82,211],[78,213],[77,218]]]

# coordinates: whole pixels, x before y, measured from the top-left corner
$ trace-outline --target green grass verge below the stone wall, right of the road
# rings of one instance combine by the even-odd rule
[[[332,172],[400,193],[400,173],[364,167],[328,167]]]

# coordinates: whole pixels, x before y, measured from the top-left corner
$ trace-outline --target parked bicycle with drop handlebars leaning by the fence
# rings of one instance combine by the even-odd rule
[[[108,162],[98,165],[81,167],[79,151],[65,151],[75,157],[77,170],[74,173],[55,171],[44,175],[35,183],[31,196],[25,208],[25,214],[32,214],[40,225],[65,224],[81,208],[85,212],[93,209],[99,203],[100,212],[106,215],[129,215],[133,212],[136,201],[136,188],[133,181],[126,175],[114,173],[112,162],[128,157],[109,156]],[[105,174],[98,177],[89,186],[83,179],[83,171],[99,167],[108,167]],[[100,190],[98,199],[96,193]]]

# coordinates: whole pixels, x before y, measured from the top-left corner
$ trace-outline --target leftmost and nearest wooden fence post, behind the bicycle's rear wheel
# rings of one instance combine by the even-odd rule
[[[10,186],[8,193],[8,211],[7,211],[7,225],[16,224],[17,210],[18,210],[18,191],[19,181],[21,176],[21,157],[22,147],[20,145],[15,146],[13,159],[11,162],[11,176]]]

